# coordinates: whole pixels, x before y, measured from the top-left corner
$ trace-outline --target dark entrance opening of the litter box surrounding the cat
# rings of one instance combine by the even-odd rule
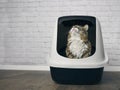
[[[88,25],[88,40],[91,43],[92,56],[96,50],[96,19],[90,16],[64,16],[58,19],[57,26],[57,53],[61,56],[66,55],[66,48],[68,43],[68,35],[74,25],[84,26]]]

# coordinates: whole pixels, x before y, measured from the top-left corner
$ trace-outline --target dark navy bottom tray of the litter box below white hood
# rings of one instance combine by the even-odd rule
[[[101,68],[58,68],[50,67],[52,79],[59,84],[98,84],[102,79],[104,67]]]

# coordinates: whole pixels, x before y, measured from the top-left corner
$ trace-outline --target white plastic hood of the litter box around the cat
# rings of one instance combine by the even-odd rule
[[[96,18],[96,51],[92,56],[82,59],[70,59],[58,54],[57,48],[57,30],[58,21],[55,23],[55,30],[53,35],[52,49],[48,56],[48,63],[52,67],[61,68],[99,68],[104,67],[108,61],[108,57],[104,51],[103,39],[101,33],[101,26]]]

